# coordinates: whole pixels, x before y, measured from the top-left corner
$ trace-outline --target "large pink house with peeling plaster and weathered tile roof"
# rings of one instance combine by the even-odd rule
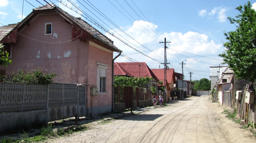
[[[87,116],[113,110],[113,52],[122,51],[81,18],[46,4],[20,23],[0,27],[0,43],[13,61],[0,67],[5,74],[40,66],[57,73],[58,82],[87,86]],[[98,96],[90,95],[91,87],[98,88]]]

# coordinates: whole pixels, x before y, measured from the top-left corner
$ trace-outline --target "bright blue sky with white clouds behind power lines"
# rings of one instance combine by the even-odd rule
[[[37,1],[46,4],[44,0]],[[33,8],[41,6],[37,1],[24,0],[23,5],[23,0],[0,0],[0,23],[7,25],[20,22],[22,6],[24,19]],[[61,4],[60,0],[46,1],[53,2],[75,17],[81,17],[112,39],[114,45],[126,55],[126,57],[120,56],[116,62],[146,62],[150,68],[159,68],[159,65],[163,68],[160,63],[164,60],[164,45],[159,42],[164,41],[166,37],[167,41],[171,41],[167,44],[167,62],[170,63],[168,67],[174,68],[175,72],[182,73],[179,63],[184,61],[186,80],[189,80],[189,72],[193,72],[192,80],[210,79],[209,67],[217,66],[221,62],[218,54],[223,52],[223,42],[226,41],[223,31],[235,30],[235,26],[229,23],[227,17],[235,17],[238,14],[235,8],[247,3],[245,0],[69,0],[84,11],[82,13],[68,0],[61,1],[82,13],[83,17],[64,6],[64,3]],[[256,0],[251,1],[251,4],[256,8]],[[96,8],[94,9],[97,11],[90,6],[95,6],[115,25],[103,18]],[[88,16],[85,15],[104,26],[104,30],[90,22]],[[143,53],[152,59],[123,44],[109,33],[118,36],[139,51],[146,51]],[[114,56],[116,55],[117,53],[114,53]]]

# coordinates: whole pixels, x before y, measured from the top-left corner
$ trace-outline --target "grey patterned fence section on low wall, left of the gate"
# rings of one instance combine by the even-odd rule
[[[0,82],[0,113],[46,109],[47,85]]]

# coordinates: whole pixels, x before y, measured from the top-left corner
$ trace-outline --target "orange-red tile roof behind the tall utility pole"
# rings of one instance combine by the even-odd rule
[[[159,80],[162,80],[164,82],[164,68],[151,69],[151,70]],[[176,83],[175,72],[173,68],[170,68],[169,70],[166,71],[166,79],[167,79],[167,83],[172,83],[172,79],[174,83]]]

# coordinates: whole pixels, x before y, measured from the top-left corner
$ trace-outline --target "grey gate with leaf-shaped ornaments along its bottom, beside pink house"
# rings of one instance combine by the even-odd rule
[[[85,116],[86,88],[76,84],[52,83],[49,85],[48,121]]]

